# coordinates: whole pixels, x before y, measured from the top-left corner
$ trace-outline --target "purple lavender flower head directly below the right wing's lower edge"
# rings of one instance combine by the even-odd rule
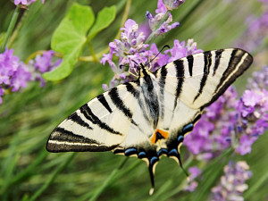
[[[197,160],[209,160],[220,155],[230,147],[234,138],[236,113],[232,109],[237,105],[235,88],[228,88],[219,99],[206,108],[194,130],[184,140],[188,150],[197,155]]]

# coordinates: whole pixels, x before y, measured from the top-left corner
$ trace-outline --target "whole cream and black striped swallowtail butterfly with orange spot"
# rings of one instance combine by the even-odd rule
[[[147,162],[154,191],[162,155],[181,166],[180,146],[204,108],[253,62],[238,48],[207,51],[168,63],[155,72],[140,64],[138,80],[96,96],[51,133],[49,152],[135,155]]]

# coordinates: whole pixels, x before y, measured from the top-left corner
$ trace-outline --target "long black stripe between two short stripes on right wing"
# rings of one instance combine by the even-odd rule
[[[193,102],[195,102],[197,100],[197,97],[201,95],[203,88],[205,87],[205,82],[206,82],[207,76],[209,74],[210,66],[212,63],[211,57],[212,57],[211,51],[207,51],[204,53],[204,71],[203,71],[204,74],[203,74],[202,80],[200,82],[200,88],[198,90],[198,94],[197,94],[197,96],[195,96]]]

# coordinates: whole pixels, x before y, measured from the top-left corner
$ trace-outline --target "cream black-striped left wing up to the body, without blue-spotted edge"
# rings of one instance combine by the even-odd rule
[[[135,143],[146,140],[142,137],[152,128],[143,119],[137,96],[139,88],[134,82],[96,96],[54,129],[46,149],[50,152],[108,151],[118,147],[125,138],[127,144],[132,140]]]

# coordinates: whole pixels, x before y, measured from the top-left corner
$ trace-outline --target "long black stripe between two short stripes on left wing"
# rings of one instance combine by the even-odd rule
[[[101,129],[106,130],[115,135],[122,135],[120,132],[113,130],[110,126],[108,126],[105,122],[100,121],[97,116],[92,113],[91,109],[88,107],[88,104],[85,104],[80,107],[80,112],[84,114],[84,116],[91,121],[92,123],[98,125]]]

